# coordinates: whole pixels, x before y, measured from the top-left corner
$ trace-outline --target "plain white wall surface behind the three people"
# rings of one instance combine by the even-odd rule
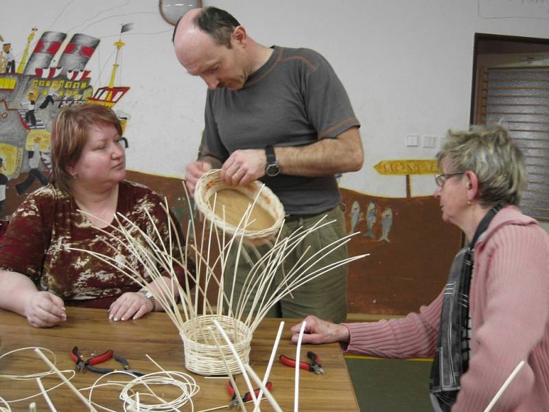
[[[478,0],[498,5],[498,0]],[[342,186],[377,196],[405,196],[402,176],[380,176],[373,165],[385,159],[431,159],[439,148],[406,148],[406,135],[438,138],[447,128],[467,128],[471,102],[475,32],[547,38],[547,19],[480,16],[476,0],[204,0],[232,12],[248,34],[264,45],[311,47],[342,79],[362,122],[366,163],[342,178]],[[532,7],[513,3],[515,15]],[[538,5],[538,7],[540,7]],[[543,7],[543,5],[541,6]],[[22,52],[33,26],[82,32],[101,38],[87,65],[95,86],[108,82],[112,43],[121,23],[121,84],[132,89],[115,106],[132,116],[128,168],[183,176],[196,156],[203,127],[206,87],[185,73],[174,57],[172,26],[161,19],[156,0],[3,0],[0,35]],[[531,12],[532,10],[526,10]],[[549,13],[544,10],[547,16]],[[530,13],[531,14],[531,13]],[[35,41],[38,36],[35,38]],[[104,67],[97,82],[99,67]],[[432,176],[412,176],[412,195],[432,193]]]

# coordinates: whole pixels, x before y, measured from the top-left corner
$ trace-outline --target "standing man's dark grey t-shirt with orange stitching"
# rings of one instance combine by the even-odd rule
[[[223,163],[235,150],[303,146],[360,126],[323,56],[310,49],[272,48],[269,60],[242,89],[208,91],[201,156]],[[320,214],[340,203],[333,175],[279,174],[261,181],[277,194],[287,214]]]

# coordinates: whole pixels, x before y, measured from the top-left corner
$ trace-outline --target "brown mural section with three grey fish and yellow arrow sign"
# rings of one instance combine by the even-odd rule
[[[406,314],[442,290],[461,243],[456,227],[441,220],[439,200],[412,193],[410,176],[436,174],[434,159],[391,159],[373,168],[402,176],[405,198],[385,198],[342,189],[349,253],[370,253],[349,267],[349,312]]]

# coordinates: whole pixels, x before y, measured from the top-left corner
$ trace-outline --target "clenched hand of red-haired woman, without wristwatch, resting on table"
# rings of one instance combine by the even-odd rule
[[[35,328],[51,328],[67,320],[63,299],[53,293],[38,291],[27,300],[25,317]]]

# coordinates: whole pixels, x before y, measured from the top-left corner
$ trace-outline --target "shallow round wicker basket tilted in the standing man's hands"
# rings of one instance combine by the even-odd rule
[[[220,180],[219,169],[212,169],[198,179],[194,197],[205,218],[229,235],[239,231],[246,208],[257,197],[248,219],[250,224],[244,230],[244,238],[253,243],[274,237],[285,216],[279,198],[263,183],[253,181],[244,186],[229,186]]]

